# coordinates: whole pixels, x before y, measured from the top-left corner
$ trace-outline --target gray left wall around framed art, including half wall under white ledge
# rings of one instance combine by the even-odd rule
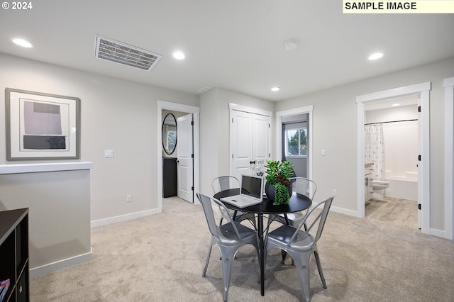
[[[0,91],[6,87],[81,99],[79,161],[93,163],[79,178],[80,172],[1,175],[0,211],[31,208],[31,269],[89,253],[90,221],[158,212],[156,101],[198,106],[198,96],[0,54]],[[5,141],[0,123],[0,145]],[[104,158],[104,150],[114,150],[114,158]],[[6,162],[0,147],[0,164],[37,162],[43,161]]]

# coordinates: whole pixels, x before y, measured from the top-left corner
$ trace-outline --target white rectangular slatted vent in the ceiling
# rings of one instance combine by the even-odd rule
[[[94,57],[131,67],[151,70],[162,55],[96,35]]]

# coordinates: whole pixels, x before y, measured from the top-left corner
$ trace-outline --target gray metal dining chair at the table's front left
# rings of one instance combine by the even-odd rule
[[[219,206],[224,210],[227,210],[226,206],[221,201],[204,194],[197,193],[197,198],[204,208],[206,222],[211,233],[211,242],[208,250],[208,256],[206,257],[206,264],[202,276],[206,276],[206,269],[208,269],[208,263],[211,255],[211,248],[213,245],[217,245],[221,252],[222,262],[222,279],[223,279],[223,300],[227,301],[228,287],[230,285],[230,277],[233,268],[233,260],[235,259],[236,253],[241,247],[245,245],[253,245],[257,251],[257,257],[259,259],[259,247],[257,233],[255,230],[248,228],[236,221],[233,221],[231,216],[226,216],[227,223],[216,224],[216,218],[214,216],[213,206]],[[228,212],[226,212],[228,213]],[[260,263],[260,260],[258,260]],[[260,274],[260,269],[259,269]]]

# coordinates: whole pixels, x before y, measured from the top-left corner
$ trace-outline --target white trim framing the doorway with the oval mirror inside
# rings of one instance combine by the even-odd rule
[[[200,108],[196,106],[189,106],[184,104],[172,103],[168,101],[157,101],[157,113],[156,113],[156,146],[157,146],[157,210],[158,213],[162,212],[162,143],[161,143],[161,125],[162,125],[162,110],[173,110],[184,113],[192,113],[194,121],[194,190],[192,191],[193,203],[198,203],[195,198],[195,193],[200,191],[199,182],[199,169],[200,169],[200,151],[199,151],[199,115]]]

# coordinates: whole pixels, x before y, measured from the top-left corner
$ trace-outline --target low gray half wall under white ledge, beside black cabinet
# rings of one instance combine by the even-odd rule
[[[80,255],[91,259],[89,189],[88,169],[0,174],[0,211],[29,208],[32,277],[43,274],[34,273],[36,267]]]

